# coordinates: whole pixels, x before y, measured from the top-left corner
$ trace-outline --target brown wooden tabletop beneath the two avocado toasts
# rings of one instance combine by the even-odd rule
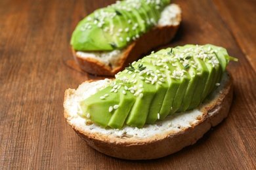
[[[127,161],[87,146],[68,125],[67,88],[89,79],[70,37],[87,14],[114,0],[0,1],[0,169],[256,169],[256,3],[177,0],[182,24],[167,46],[224,46],[234,76],[228,118],[198,143],[165,158]]]

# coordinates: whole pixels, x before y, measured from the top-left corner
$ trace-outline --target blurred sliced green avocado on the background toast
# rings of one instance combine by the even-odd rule
[[[154,27],[170,0],[126,0],[95,10],[81,20],[70,44],[74,50],[123,48]]]

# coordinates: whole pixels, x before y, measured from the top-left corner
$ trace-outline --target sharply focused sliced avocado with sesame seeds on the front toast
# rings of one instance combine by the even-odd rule
[[[79,115],[102,127],[140,128],[175,112],[196,109],[217,88],[230,59],[235,60],[224,48],[211,44],[152,52],[81,101]]]

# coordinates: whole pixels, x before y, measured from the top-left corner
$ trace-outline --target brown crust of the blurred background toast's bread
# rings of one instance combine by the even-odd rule
[[[177,21],[179,23],[181,22],[181,13],[177,14]],[[77,51],[72,48],[75,63],[87,73],[93,75],[114,76],[119,71],[125,69],[125,67],[128,66],[128,63],[137,61],[142,54],[146,54],[150,52],[150,50],[170,42],[175,36],[179,25],[180,24],[166,26],[158,25],[153,27],[150,31],[140,36],[139,39],[131,42],[131,44],[121,52],[121,58],[116,67],[113,65],[106,65],[96,58],[84,58],[78,56],[76,54]]]

